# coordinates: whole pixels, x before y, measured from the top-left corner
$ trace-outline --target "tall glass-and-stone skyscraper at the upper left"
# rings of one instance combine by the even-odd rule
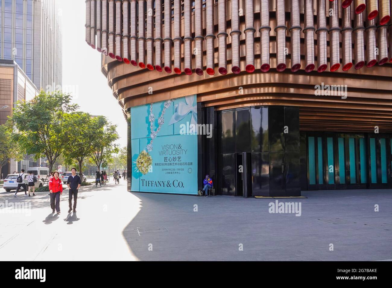
[[[38,89],[50,85],[54,91],[62,85],[61,17],[55,0],[0,0],[0,59],[15,60]]]

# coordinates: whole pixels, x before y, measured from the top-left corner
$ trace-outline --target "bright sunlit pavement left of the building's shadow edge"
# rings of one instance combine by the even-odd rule
[[[122,179],[121,179],[122,180]],[[65,186],[65,185],[64,185]],[[61,196],[61,214],[53,214],[49,192],[25,196],[0,193],[0,203],[31,203],[11,213],[0,208],[0,259],[3,261],[136,260],[122,231],[139,210],[125,181],[96,188],[81,187],[76,213],[68,211],[68,190]],[[9,206],[9,203],[7,203]]]

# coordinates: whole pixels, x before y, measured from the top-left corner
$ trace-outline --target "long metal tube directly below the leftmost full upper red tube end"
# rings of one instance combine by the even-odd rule
[[[342,65],[343,71],[352,67],[352,25],[351,25],[351,5],[343,9],[342,19]]]

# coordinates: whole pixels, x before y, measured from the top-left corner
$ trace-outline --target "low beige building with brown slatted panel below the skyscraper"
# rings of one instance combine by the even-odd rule
[[[0,125],[11,116],[17,101],[28,101],[38,94],[39,91],[33,81],[16,62],[0,60]],[[30,167],[29,163],[32,164],[31,166],[37,166],[33,165],[32,161],[29,156],[25,156],[19,163],[11,159],[9,165],[2,167],[1,173],[7,176],[8,173],[19,171],[20,167]]]

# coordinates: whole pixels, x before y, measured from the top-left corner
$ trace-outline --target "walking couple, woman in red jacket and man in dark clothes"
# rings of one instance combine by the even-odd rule
[[[70,213],[72,210],[76,212],[76,201],[78,199],[78,191],[80,185],[82,185],[82,180],[78,175],[76,175],[76,168],[71,169],[71,176],[68,177],[67,186],[69,189],[68,204]],[[59,177],[57,171],[53,172],[53,177],[49,180],[49,190],[50,190],[50,206],[52,208],[52,213],[56,210],[57,214],[60,214],[60,195],[63,194],[63,184]],[[72,198],[74,203],[72,206]]]

